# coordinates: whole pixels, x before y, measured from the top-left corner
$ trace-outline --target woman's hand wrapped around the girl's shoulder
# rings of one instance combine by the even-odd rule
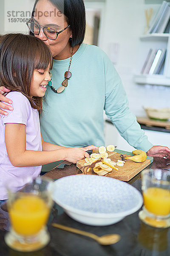
[[[8,99],[8,98],[6,98],[5,96],[2,95],[3,93],[8,93],[8,92],[10,92],[10,90],[6,89],[6,87],[4,87],[4,86],[0,87],[0,114],[5,115],[5,116],[8,115],[8,112],[3,111],[1,108],[8,109],[8,110],[13,110],[12,106],[9,106],[7,104],[2,103],[2,101],[3,101],[3,102],[7,102],[9,104],[12,104],[11,99]]]

